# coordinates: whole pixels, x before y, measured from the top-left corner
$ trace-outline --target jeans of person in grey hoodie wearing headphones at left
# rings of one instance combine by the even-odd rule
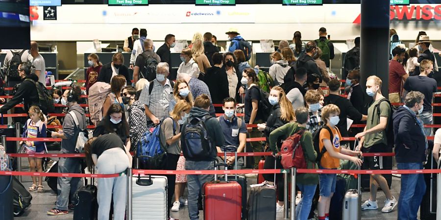
[[[58,173],[81,174],[81,164],[78,158],[60,157],[58,160]],[[74,201],[73,194],[83,186],[83,180],[78,177],[58,177],[57,203],[55,208],[68,210],[69,199]]]

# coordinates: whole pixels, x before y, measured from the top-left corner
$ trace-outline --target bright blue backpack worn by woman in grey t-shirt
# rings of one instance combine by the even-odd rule
[[[163,169],[167,162],[167,146],[161,144],[159,137],[161,131],[161,124],[152,127],[138,141],[136,156],[139,159],[139,169],[156,170]],[[176,132],[176,125],[173,121],[173,134]]]

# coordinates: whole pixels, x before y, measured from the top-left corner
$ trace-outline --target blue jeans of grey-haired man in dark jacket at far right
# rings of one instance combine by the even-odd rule
[[[422,163],[397,163],[398,170],[420,170]],[[398,199],[398,220],[417,220],[422,197],[426,192],[423,174],[402,174]]]

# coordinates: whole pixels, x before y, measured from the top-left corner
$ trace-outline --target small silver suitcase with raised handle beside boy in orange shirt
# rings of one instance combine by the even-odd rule
[[[360,167],[358,167],[360,170]],[[357,189],[350,189],[344,194],[343,198],[343,218],[342,220],[361,220],[361,175],[358,175]]]

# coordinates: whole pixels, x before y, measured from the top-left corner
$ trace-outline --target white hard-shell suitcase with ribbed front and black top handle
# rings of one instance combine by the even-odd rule
[[[133,176],[132,219],[167,219],[167,176]]]

